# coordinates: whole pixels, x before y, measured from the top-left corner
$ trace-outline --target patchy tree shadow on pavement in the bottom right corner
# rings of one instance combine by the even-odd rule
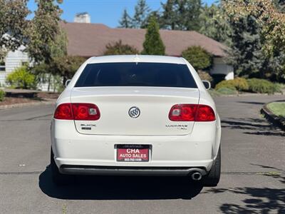
[[[284,170],[266,165],[259,166],[261,168],[279,170],[280,174],[271,175],[270,173],[264,173],[262,175],[270,176],[271,178],[277,179],[279,182],[284,183]],[[222,204],[219,207],[222,213],[285,213],[285,188],[212,188],[204,191],[204,193],[234,193],[247,195],[247,198],[242,200],[244,205],[235,203]]]

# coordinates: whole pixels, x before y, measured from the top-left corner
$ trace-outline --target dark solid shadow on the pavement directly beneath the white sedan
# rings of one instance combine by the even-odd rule
[[[56,186],[49,167],[39,176],[39,187],[52,198],[74,200],[156,200],[191,199],[201,185],[183,177],[80,176],[75,182]]]

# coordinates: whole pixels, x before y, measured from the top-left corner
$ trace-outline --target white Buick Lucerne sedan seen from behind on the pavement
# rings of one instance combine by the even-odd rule
[[[205,86],[185,58],[89,58],[56,102],[53,181],[170,175],[217,185],[221,124]]]

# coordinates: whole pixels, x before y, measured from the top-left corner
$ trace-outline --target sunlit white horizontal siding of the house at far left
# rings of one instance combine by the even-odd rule
[[[0,84],[4,86],[5,78],[8,73],[15,70],[15,68],[19,68],[22,66],[22,63],[28,62],[28,54],[24,53],[24,47],[22,46],[17,51],[9,51],[6,58],[5,58],[5,71],[0,71]]]

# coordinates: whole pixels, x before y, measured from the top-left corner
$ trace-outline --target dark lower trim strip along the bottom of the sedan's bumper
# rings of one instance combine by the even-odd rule
[[[190,176],[194,172],[206,175],[204,168],[187,167],[108,167],[90,165],[61,165],[59,171],[71,175],[131,175],[131,176]]]

